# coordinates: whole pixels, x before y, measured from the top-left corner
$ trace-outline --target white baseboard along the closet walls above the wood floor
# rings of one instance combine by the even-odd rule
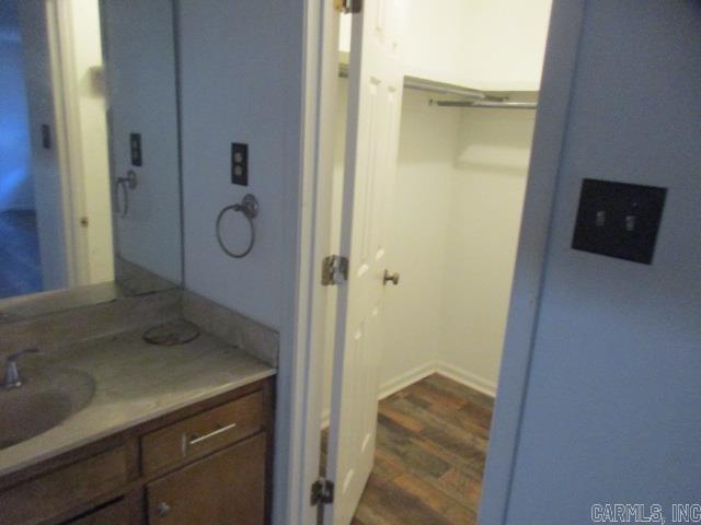
[[[484,377],[481,377],[464,369],[459,369],[458,366],[446,363],[445,361],[435,361],[410,370],[409,372],[398,377],[393,377],[392,380],[380,385],[378,400],[384,399],[386,397],[389,397],[392,394],[406,388],[409,385],[413,385],[424,377],[428,377],[430,374],[435,373],[445,375],[449,380],[469,386],[470,388],[474,388],[475,390],[481,392],[482,394],[485,394],[490,397],[496,396],[496,383],[494,383],[493,381],[485,380]],[[321,428],[325,429],[330,424],[331,410],[326,409],[321,415]]]

